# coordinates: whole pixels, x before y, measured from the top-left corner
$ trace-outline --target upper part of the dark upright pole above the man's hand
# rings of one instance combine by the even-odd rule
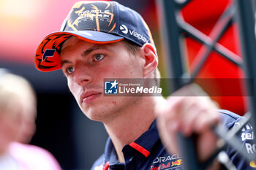
[[[167,72],[170,78],[181,78],[185,72],[181,55],[181,45],[179,37],[181,28],[176,21],[176,3],[174,0],[160,0],[159,6],[162,12],[162,31],[165,35],[165,51],[167,55]],[[181,81],[170,82],[171,92],[183,86]]]

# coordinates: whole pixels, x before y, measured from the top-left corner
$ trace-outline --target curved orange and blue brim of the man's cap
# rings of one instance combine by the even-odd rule
[[[107,44],[118,42],[124,39],[122,36],[116,36],[99,31],[59,31],[45,36],[37,47],[34,63],[39,71],[50,72],[61,69],[61,45],[70,36],[77,36],[86,42],[95,44]]]

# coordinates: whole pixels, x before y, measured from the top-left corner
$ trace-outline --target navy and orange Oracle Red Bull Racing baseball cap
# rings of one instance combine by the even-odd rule
[[[61,69],[61,45],[70,36],[96,44],[129,39],[140,47],[146,43],[154,45],[148,26],[133,9],[116,1],[78,1],[64,20],[61,31],[45,36],[39,43],[34,59],[39,71]]]

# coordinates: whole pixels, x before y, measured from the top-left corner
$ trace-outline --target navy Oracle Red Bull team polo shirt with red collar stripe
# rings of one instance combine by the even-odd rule
[[[239,125],[239,120],[242,117],[233,114],[232,112],[219,110],[224,125],[230,129],[234,125]],[[239,139],[243,144],[241,149],[246,150],[248,154],[255,154],[255,142],[252,126],[246,124],[241,132],[238,133]],[[135,142],[124,146],[122,152],[124,153],[125,163],[118,162],[115,147],[110,138],[105,146],[105,153],[94,163],[91,170],[182,170],[183,161],[182,156],[177,153],[168,153],[163,147],[159,134],[157,131],[156,120],[151,124],[148,131],[140,136]],[[244,158],[238,155],[236,150],[227,147],[227,155],[237,169],[256,169],[255,162],[247,162]]]

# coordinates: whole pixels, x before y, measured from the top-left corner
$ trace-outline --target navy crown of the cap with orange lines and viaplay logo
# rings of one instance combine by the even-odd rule
[[[85,30],[97,31],[99,35],[93,34],[97,36],[95,39],[93,36],[84,36],[94,41],[111,41],[108,34],[113,34],[129,39],[140,47],[151,43],[150,33],[140,14],[116,1],[78,2],[64,22],[67,23],[63,31],[72,31],[73,34]],[[107,34],[100,34],[102,32]]]

